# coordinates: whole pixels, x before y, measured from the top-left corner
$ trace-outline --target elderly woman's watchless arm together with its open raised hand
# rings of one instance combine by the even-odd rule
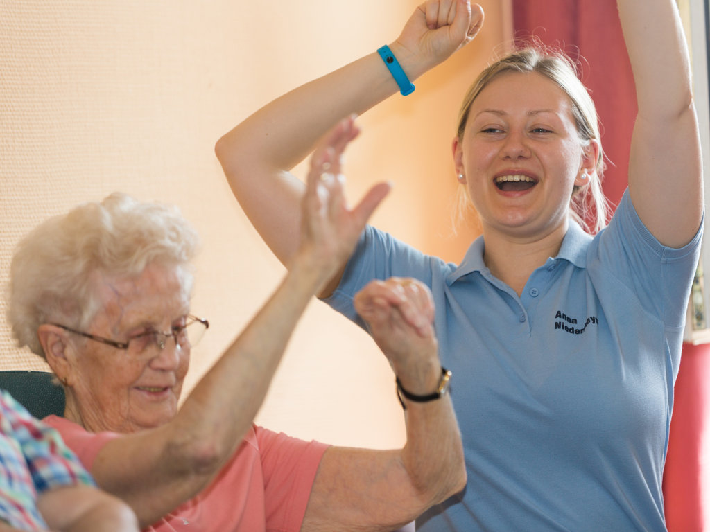
[[[379,187],[349,209],[342,179],[324,173],[331,153],[327,146],[313,156],[300,205],[300,245],[271,299],[204,375],[175,419],[116,438],[99,452],[92,474],[102,488],[129,502],[141,526],[200,492],[236,450],[305,306],[345,262],[387,194],[388,187]]]

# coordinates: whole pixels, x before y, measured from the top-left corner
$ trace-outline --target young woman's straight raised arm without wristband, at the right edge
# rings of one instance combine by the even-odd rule
[[[618,0],[638,99],[629,192],[649,231],[682,247],[700,225],[703,185],[688,50],[673,0]]]

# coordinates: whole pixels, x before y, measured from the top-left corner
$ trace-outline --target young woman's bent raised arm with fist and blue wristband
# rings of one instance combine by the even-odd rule
[[[429,0],[390,48],[413,80],[474,38],[482,21],[483,11],[470,0]],[[342,118],[364,113],[397,90],[373,50],[272,101],[218,141],[217,157],[236,199],[284,264],[297,249],[303,193],[289,170]]]

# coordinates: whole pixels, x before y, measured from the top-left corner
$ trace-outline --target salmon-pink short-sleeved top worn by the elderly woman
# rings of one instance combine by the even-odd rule
[[[88,470],[107,441],[121,437],[58,416],[44,421]],[[254,425],[212,484],[146,531],[298,532],[326,448]]]

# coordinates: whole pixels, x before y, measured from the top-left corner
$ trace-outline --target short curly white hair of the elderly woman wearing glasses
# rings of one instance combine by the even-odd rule
[[[8,320],[18,345],[44,357],[42,323],[86,327],[99,310],[97,274],[136,277],[151,263],[182,270],[192,289],[196,231],[174,206],[111,194],[49,218],[18,244],[10,266]]]

